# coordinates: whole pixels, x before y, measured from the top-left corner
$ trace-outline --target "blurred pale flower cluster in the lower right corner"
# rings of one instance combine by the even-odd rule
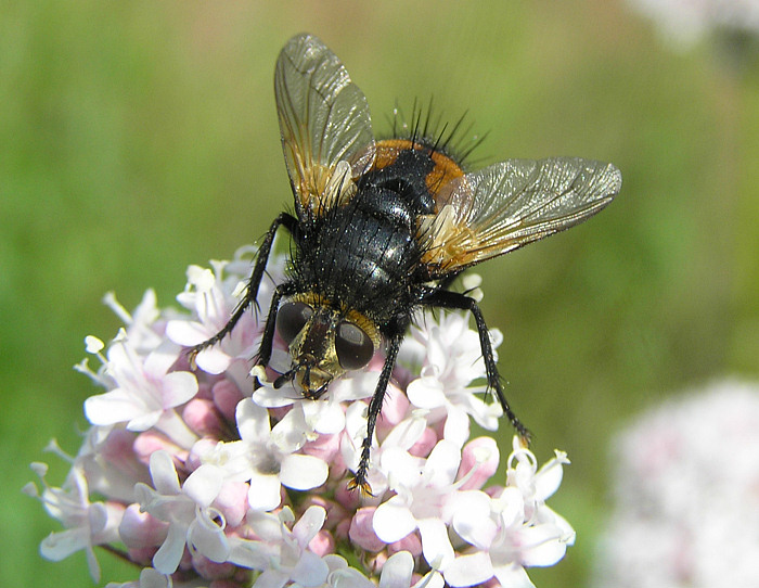
[[[717,382],[623,431],[594,586],[759,586],[759,385]]]

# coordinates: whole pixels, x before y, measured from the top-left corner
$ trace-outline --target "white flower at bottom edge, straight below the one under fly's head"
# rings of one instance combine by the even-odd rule
[[[309,507],[300,520],[285,507],[279,515],[250,511],[247,520],[253,533],[260,540],[234,539],[229,561],[261,570],[254,588],[281,588],[287,581],[310,588],[324,584],[327,564],[308,550],[308,544],[321,531],[326,511],[322,507]]]

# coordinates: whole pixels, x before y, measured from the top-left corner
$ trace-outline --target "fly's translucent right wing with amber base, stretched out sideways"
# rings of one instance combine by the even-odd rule
[[[619,193],[612,164],[579,157],[509,159],[445,186],[423,217],[423,261],[443,276],[568,229]]]

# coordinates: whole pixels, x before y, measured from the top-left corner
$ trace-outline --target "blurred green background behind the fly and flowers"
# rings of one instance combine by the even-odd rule
[[[614,162],[599,217],[480,267],[517,413],[573,465],[552,506],[577,545],[539,587],[587,585],[609,439],[679,389],[759,372],[759,66],[716,43],[672,51],[620,1],[63,2],[0,8],[0,580],[91,586],[43,561],[57,531],[20,488],[51,437],[74,452],[94,392],[72,366],[119,324],[101,304],[162,306],[189,264],[228,258],[291,201],[276,54],[319,35],[375,130],[430,95],[488,138],[474,157]],[[703,423],[705,427],[708,422]],[[511,431],[503,426],[507,450]],[[105,580],[137,573],[100,553]],[[104,583],[103,583],[104,584]]]

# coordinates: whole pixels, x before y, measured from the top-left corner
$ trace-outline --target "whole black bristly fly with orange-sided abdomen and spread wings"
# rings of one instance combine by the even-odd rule
[[[290,346],[292,367],[274,385],[291,381],[304,397],[316,399],[334,379],[385,349],[351,488],[371,491],[366,472],[374,425],[398,349],[420,308],[472,312],[488,385],[527,438],[501,387],[477,303],[447,286],[471,266],[601,210],[619,192],[619,170],[552,157],[509,159],[464,172],[438,145],[439,138],[414,131],[375,141],[365,97],[311,35],[298,35],[282,49],[274,92],[294,215],[281,213],[271,223],[240,305],[191,355],[221,341],[256,302],[282,227],[293,242],[291,270],[272,296],[257,366],[269,363],[276,330]]]

